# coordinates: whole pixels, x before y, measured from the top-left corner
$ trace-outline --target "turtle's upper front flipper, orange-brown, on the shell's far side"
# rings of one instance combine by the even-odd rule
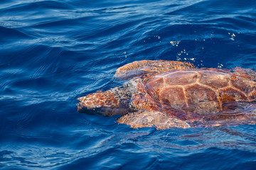
[[[148,73],[168,72],[174,69],[193,69],[195,66],[188,62],[169,60],[142,60],[125,64],[117,69],[114,77],[118,79],[130,79]]]

